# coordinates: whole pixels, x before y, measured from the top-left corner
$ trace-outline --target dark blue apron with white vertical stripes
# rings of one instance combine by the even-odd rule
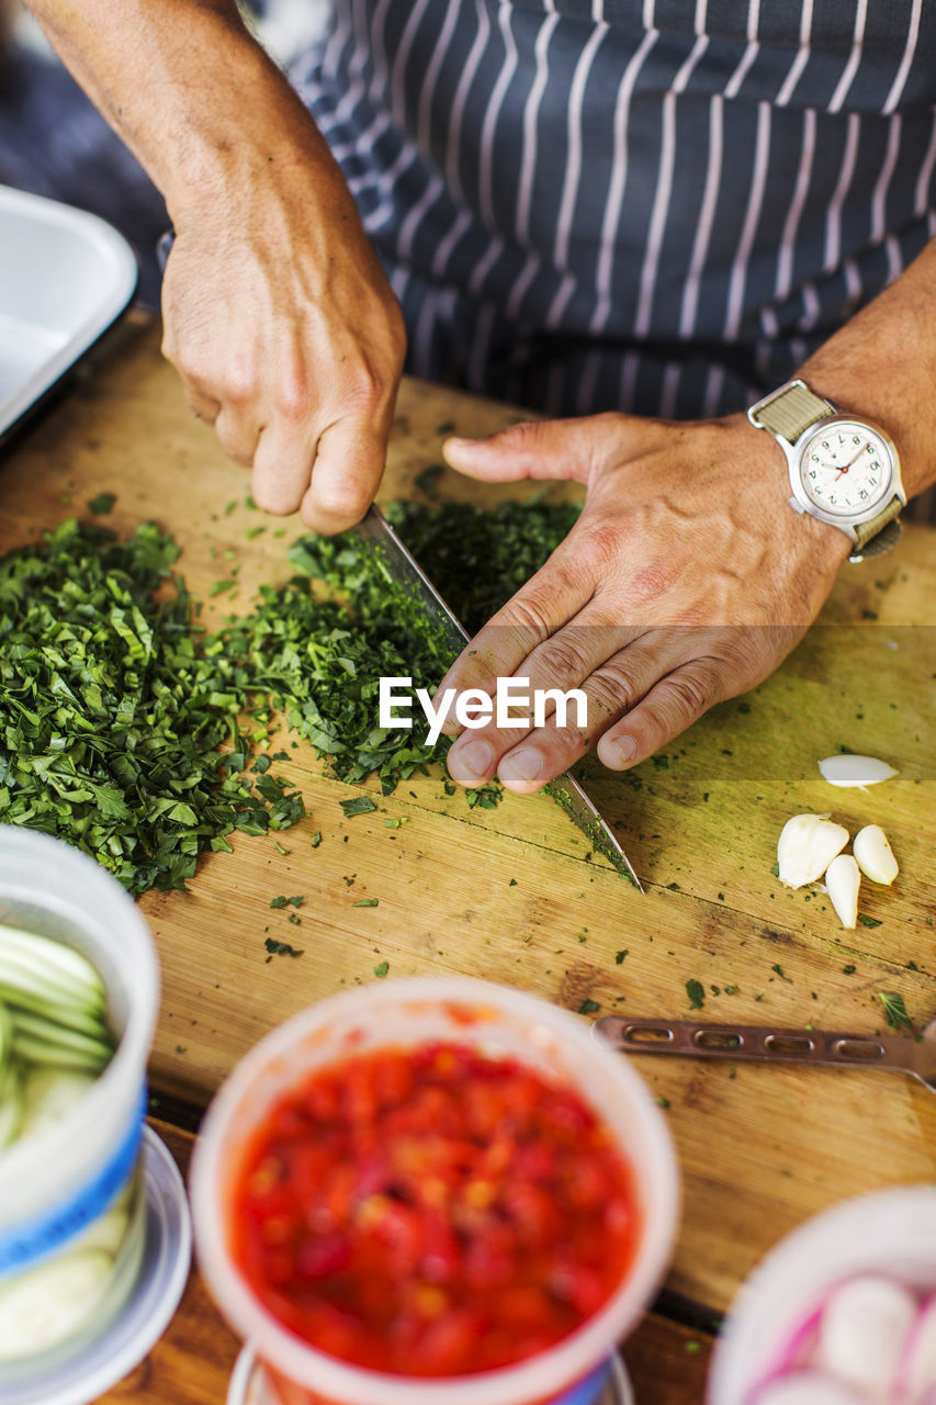
[[[932,0],[336,0],[292,79],[408,370],[741,409],[936,233]]]

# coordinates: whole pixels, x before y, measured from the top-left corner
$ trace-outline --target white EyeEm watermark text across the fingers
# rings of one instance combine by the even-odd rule
[[[402,691],[403,688],[409,691]],[[571,707],[575,708],[573,725],[580,731],[587,726],[589,707],[582,688],[569,688],[568,693],[561,688],[534,688],[530,693],[530,679],[498,679],[493,698],[481,688],[465,688],[458,694],[455,688],[446,688],[433,698],[429,688],[413,690],[413,680],[406,677],[381,679],[378,725],[410,728],[413,691],[429,722],[426,740],[430,746],[438,740],[453,704],[455,721],[469,729],[486,726],[488,722],[500,728],[544,726],[551,714],[555,715],[557,726],[568,726]]]

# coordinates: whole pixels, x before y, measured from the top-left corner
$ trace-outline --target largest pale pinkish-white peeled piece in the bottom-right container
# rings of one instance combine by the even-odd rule
[[[898,1283],[876,1274],[852,1279],[825,1304],[815,1364],[887,1405],[915,1318],[916,1301]]]

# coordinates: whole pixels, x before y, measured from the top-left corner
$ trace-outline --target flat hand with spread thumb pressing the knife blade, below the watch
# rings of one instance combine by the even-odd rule
[[[846,535],[790,509],[776,443],[743,414],[670,423],[627,414],[516,424],[448,440],[488,482],[576,479],[582,516],[471,641],[440,684],[493,695],[498,677],[580,687],[587,726],[464,732],[462,785],[495,774],[527,794],[597,742],[611,770],[645,760],[713,704],[766,679],[797,645],[847,555]],[[454,708],[451,726],[457,732]],[[575,710],[571,712],[575,718]]]

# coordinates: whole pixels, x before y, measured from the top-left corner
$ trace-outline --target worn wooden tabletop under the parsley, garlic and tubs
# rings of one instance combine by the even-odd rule
[[[453,426],[486,433],[510,417],[505,406],[405,384],[382,496],[413,493]],[[444,496],[499,496],[451,473],[437,486]],[[298,523],[246,506],[246,476],[193,417],[155,332],[125,340],[10,455],[0,547],[87,516],[86,502],[105,490],[117,493],[118,531],[155,518],[176,535],[208,622],[222,613],[209,586],[232,565],[242,583],[233,608],[257,583],[291,573],[284,547]],[[391,976],[483,975],[572,1010],[593,1000],[602,1013],[634,1016],[686,1017],[686,982],[696,979],[713,1020],[854,1031],[881,1027],[878,992],[894,991],[925,1021],[936,1010],[932,548],[933,530],[914,525],[892,555],[843,569],[821,624],[780,672],[714,708],[665,754],[624,776],[586,763],[585,784],[642,896],[545,797],[472,811],[431,776],[347,819],[339,801],[349,788],[305,743],[291,752],[284,771],[309,816],[277,836],[288,853],[274,836],[239,835],[233,856],[204,860],[190,892],[141,902],[164,982],[152,1082],[167,1121],[157,1125],[180,1161],[194,1125],[186,1107],[202,1107],[245,1050],[297,1009],[375,979],[384,964]],[[840,746],[884,756],[899,776],[867,794],[835,791],[817,762]],[[828,899],[773,877],[780,828],[801,811],[890,833],[902,871],[892,889],[866,885],[862,910],[876,924],[845,932]],[[408,822],[385,828],[396,816]],[[315,830],[322,843],[312,849]],[[277,894],[305,895],[302,926],[270,909]],[[361,898],[379,905],[356,908]],[[268,934],[302,957],[270,960]],[[682,1405],[701,1399],[714,1318],[783,1234],[846,1196],[933,1179],[936,1100],[911,1079],[867,1071],[649,1055],[637,1066],[668,1109],[684,1218],[665,1293],[625,1357],[641,1405]],[[193,1277],[166,1339],[107,1401],[219,1405],[233,1354]]]

